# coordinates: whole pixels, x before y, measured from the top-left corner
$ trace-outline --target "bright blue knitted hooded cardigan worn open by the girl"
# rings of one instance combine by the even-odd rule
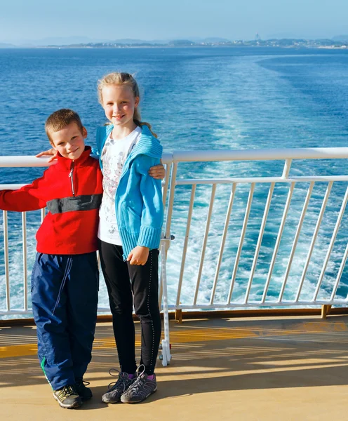
[[[113,125],[97,131],[97,154],[102,169],[102,149]],[[116,220],[126,260],[135,246],[159,248],[163,224],[161,180],[148,174],[149,168],[160,163],[162,147],[147,126],[141,126],[140,139],[123,165],[116,189]]]

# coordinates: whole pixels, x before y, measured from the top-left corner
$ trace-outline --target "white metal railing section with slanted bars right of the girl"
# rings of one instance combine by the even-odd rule
[[[331,290],[329,298],[318,298],[319,290],[321,288],[321,283],[323,281],[323,276],[326,273],[326,269],[328,267],[328,262],[330,260],[331,253],[333,251],[333,246],[335,243],[335,239],[337,236],[338,229],[340,228],[342,218],[344,215],[344,210],[347,205],[348,199],[348,189],[344,194],[342,204],[340,207],[340,212],[338,213],[337,220],[335,223],[335,228],[333,230],[333,234],[330,239],[330,244],[328,246],[328,250],[326,251],[326,256],[323,262],[321,262],[321,273],[319,275],[319,279],[316,282],[316,288],[314,295],[312,298],[307,299],[300,299],[302,287],[304,285],[304,280],[306,279],[307,270],[309,267],[309,262],[311,262],[312,253],[314,250],[314,246],[316,243],[316,239],[319,233],[319,229],[321,227],[321,222],[323,220],[323,214],[326,210],[326,205],[328,203],[328,198],[330,196],[331,189],[333,187],[334,182],[347,182],[348,176],[347,171],[345,171],[345,165],[342,165],[343,168],[343,175],[316,175],[316,176],[301,176],[301,177],[290,177],[290,168],[295,159],[301,160],[312,160],[312,159],[347,159],[348,158],[348,148],[314,148],[314,149],[256,149],[253,151],[250,150],[230,150],[230,151],[179,151],[173,152],[173,167],[171,171],[171,181],[170,181],[170,197],[169,203],[167,208],[167,220],[166,220],[166,236],[170,233],[170,226],[173,220],[173,208],[175,207],[175,187],[178,186],[190,186],[191,187],[191,194],[189,197],[189,206],[187,210],[187,224],[185,229],[185,236],[184,241],[182,244],[182,258],[180,263],[180,272],[178,276],[178,287],[176,289],[176,300],[174,305],[169,305],[169,308],[175,309],[218,309],[218,308],[236,308],[236,307],[291,307],[291,306],[313,306],[313,305],[322,305],[322,304],[336,304],[336,305],[347,305],[347,298],[340,298],[336,297],[337,288],[340,286],[340,281],[342,279],[342,274],[344,272],[344,265],[347,261],[348,256],[348,245],[345,248],[344,255],[340,262],[340,269],[337,272],[337,276],[335,279],[335,284]],[[283,173],[281,176],[278,177],[239,177],[239,178],[192,178],[192,179],[182,179],[177,178],[178,173],[178,165],[183,162],[192,162],[192,161],[273,161],[273,160],[283,160]],[[305,163],[302,163],[305,167]],[[302,270],[302,275],[298,281],[297,285],[297,293],[295,299],[293,300],[285,300],[284,299],[284,291],[286,289],[286,285],[288,282],[288,277],[290,274],[290,269],[293,265],[293,258],[295,255],[295,251],[297,250],[297,246],[300,239],[300,234],[302,230],[302,226],[304,223],[304,218],[307,215],[307,209],[309,206],[309,201],[312,197],[312,192],[314,189],[314,185],[316,182],[323,182],[327,185],[326,193],[323,198],[321,209],[319,212],[319,217],[316,220],[316,226],[314,228],[314,233],[312,235],[312,240],[309,246],[309,250],[307,251],[307,258],[304,260],[304,267]],[[265,210],[263,212],[262,222],[260,225],[260,230],[258,232],[257,242],[255,243],[255,253],[253,255],[253,262],[250,268],[248,281],[246,282],[245,294],[243,299],[236,298],[233,300],[232,294],[234,293],[234,287],[237,279],[238,269],[239,269],[239,261],[241,259],[242,250],[243,250],[243,243],[246,237],[246,230],[248,227],[248,221],[250,217],[250,208],[253,203],[253,194],[255,191],[255,186],[260,185],[261,183],[269,184],[269,192],[267,195],[267,200],[265,203]],[[274,187],[276,184],[279,183],[286,183],[289,185],[288,195],[286,199],[285,206],[283,208],[283,215],[281,217],[281,222],[279,225],[279,231],[276,235],[276,241],[274,243],[274,247],[272,250],[272,260],[269,264],[267,276],[265,277],[264,285],[259,285],[259,288],[262,288],[262,296],[260,300],[250,300],[250,288],[253,283],[254,274],[255,274],[255,267],[257,265],[257,261],[259,258],[260,248],[262,244],[262,238],[265,233],[265,226],[267,223],[267,218],[269,215],[269,209],[271,208],[272,203],[272,196],[274,193]],[[272,280],[272,275],[274,274],[274,265],[276,262],[276,258],[279,252],[279,245],[281,243],[281,239],[283,236],[283,230],[286,225],[286,221],[288,218],[288,211],[291,203],[291,199],[293,197],[293,192],[295,189],[295,185],[298,183],[309,183],[309,187],[307,190],[307,196],[304,200],[302,206],[302,212],[300,214],[300,220],[297,223],[297,227],[295,229],[295,236],[293,239],[293,244],[290,250],[290,255],[288,257],[288,262],[286,265],[286,271],[283,275],[283,280],[281,282],[279,296],[276,300],[267,300],[267,292],[269,291],[269,285]],[[250,185],[248,199],[246,201],[246,208],[243,218],[243,224],[241,227],[241,234],[239,236],[239,244],[236,249],[236,253],[234,255],[234,265],[232,269],[232,274],[230,277],[229,285],[225,284],[225,287],[228,289],[227,299],[224,301],[217,301],[215,299],[215,291],[217,288],[217,284],[220,281],[220,267],[222,264],[222,260],[224,258],[225,252],[225,242],[227,238],[227,232],[229,230],[229,222],[231,220],[232,215],[232,207],[234,204],[234,198],[236,195],[236,188],[239,185]],[[187,250],[188,250],[188,243],[189,243],[189,232],[192,223],[192,215],[194,213],[194,198],[196,194],[196,187],[198,185],[211,185],[211,192],[210,192],[210,201],[207,206],[207,214],[206,214],[206,221],[201,221],[202,223],[205,222],[204,227],[204,234],[203,240],[201,242],[201,254],[199,257],[199,266],[196,272],[196,277],[194,282],[192,282],[192,278],[188,281],[190,283],[194,283],[194,288],[191,288],[191,292],[193,295],[193,300],[189,302],[187,297],[185,298],[185,302],[182,300],[182,286],[183,286],[183,278],[185,274],[185,264],[187,261]],[[206,255],[207,249],[207,241],[208,236],[211,232],[210,224],[212,219],[213,213],[213,206],[215,203],[215,196],[216,196],[216,189],[218,185],[231,185],[231,192],[229,196],[229,201],[226,207],[225,213],[225,224],[223,225],[223,229],[221,232],[221,239],[220,239],[220,248],[216,255],[216,260],[210,262],[210,265],[215,265],[215,274],[213,276],[213,282],[209,290],[206,290],[206,293],[210,295],[208,302],[199,302],[199,290],[201,286],[201,276],[203,270],[203,264]],[[203,227],[202,227],[203,231]],[[346,240],[347,243],[347,240]],[[316,262],[317,265],[320,262]],[[168,272],[168,271],[167,271]],[[345,286],[345,284],[344,284]]]

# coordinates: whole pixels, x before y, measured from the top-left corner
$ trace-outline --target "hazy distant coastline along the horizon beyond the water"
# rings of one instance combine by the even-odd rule
[[[1,44],[0,48],[182,48],[182,47],[269,47],[269,48],[348,48],[348,36],[335,36],[333,39],[255,39],[236,40],[207,39],[205,41],[192,41],[178,39],[173,41],[141,41],[118,40],[107,42],[88,42],[74,44],[47,44],[47,45],[13,45]]]

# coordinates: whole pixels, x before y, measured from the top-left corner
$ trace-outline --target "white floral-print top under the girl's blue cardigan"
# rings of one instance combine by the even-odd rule
[[[140,127],[123,139],[112,139],[112,133],[107,138],[102,149],[102,204],[99,210],[98,238],[106,243],[121,246],[121,238],[116,221],[115,194],[121,177],[123,164],[128,154],[140,138]]]

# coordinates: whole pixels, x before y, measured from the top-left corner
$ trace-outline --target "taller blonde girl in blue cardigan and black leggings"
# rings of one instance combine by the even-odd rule
[[[161,338],[158,255],[163,222],[161,180],[149,176],[162,147],[141,122],[138,84],[128,73],[98,83],[100,104],[111,124],[98,129],[103,172],[98,238],[112,311],[121,372],[102,395],[105,403],[138,403],[156,392],[154,366]],[[130,282],[131,280],[131,282]],[[135,314],[142,330],[140,367],[135,363]]]

